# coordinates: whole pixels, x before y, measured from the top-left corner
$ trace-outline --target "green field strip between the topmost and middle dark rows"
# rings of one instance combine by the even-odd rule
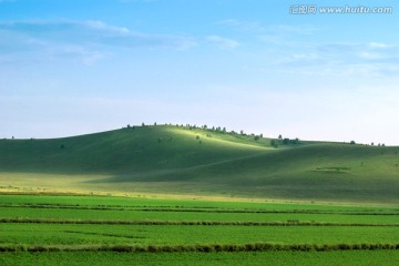
[[[61,208],[0,207],[1,218],[88,219],[88,221],[215,221],[215,222],[280,222],[300,221],[340,224],[399,224],[399,216],[389,215],[328,215],[285,213],[194,213],[194,212],[143,212],[96,211]]]

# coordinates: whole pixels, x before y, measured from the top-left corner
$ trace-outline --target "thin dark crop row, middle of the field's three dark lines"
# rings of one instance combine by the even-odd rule
[[[0,223],[14,224],[105,224],[105,225],[208,225],[208,226],[398,226],[399,224],[318,223],[318,222],[218,222],[218,221],[104,221],[104,219],[45,219],[0,218]]]

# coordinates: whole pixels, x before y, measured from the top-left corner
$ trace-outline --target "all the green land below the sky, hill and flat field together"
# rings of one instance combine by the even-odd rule
[[[0,265],[398,265],[399,147],[270,141],[0,140]]]

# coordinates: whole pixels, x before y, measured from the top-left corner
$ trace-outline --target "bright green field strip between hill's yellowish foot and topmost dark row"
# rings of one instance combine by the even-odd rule
[[[214,208],[244,211],[320,211],[352,213],[399,213],[392,206],[342,206],[318,205],[314,203],[273,203],[273,202],[215,202],[193,200],[166,200],[150,197],[112,197],[112,196],[66,196],[66,195],[10,195],[0,194],[0,203],[8,205],[53,205],[53,206],[95,206],[95,207],[132,207],[132,208]]]

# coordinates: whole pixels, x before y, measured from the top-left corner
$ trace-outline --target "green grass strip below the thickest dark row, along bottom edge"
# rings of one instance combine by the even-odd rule
[[[399,264],[399,253],[396,250],[347,250],[334,253],[3,253],[0,254],[0,264],[9,265],[250,265],[263,266],[265,263],[275,266],[296,265],[329,265],[329,266],[396,266]]]

